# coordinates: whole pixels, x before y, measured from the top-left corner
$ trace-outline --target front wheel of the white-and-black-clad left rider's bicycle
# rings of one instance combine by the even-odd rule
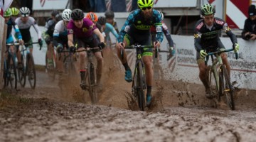
[[[27,55],[26,68],[28,72],[28,82],[32,89],[36,88],[36,69],[31,53]]]

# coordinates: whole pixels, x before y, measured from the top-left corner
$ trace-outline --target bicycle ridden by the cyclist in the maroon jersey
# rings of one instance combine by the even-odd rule
[[[82,88],[84,90],[87,90],[89,92],[92,104],[97,103],[97,76],[96,76],[96,67],[92,61],[93,53],[92,50],[97,50],[101,48],[90,48],[89,45],[85,45],[85,50],[77,50],[75,52],[86,52],[87,53],[87,67],[85,67],[86,73],[85,73],[85,81],[86,85],[85,88]]]

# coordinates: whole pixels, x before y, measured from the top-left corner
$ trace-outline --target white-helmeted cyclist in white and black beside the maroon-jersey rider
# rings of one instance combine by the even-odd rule
[[[71,19],[71,10],[65,9],[63,13],[61,14],[62,21],[58,21],[58,23],[55,24],[54,32],[53,32],[53,45],[56,47],[56,51],[58,53],[61,53],[63,48],[68,48],[68,31],[67,26],[68,22]],[[61,78],[63,74],[63,62],[58,62],[58,72]]]

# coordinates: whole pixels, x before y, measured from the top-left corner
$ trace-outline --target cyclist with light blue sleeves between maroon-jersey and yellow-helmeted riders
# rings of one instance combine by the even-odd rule
[[[111,46],[110,32],[117,38],[117,31],[115,31],[114,27],[110,23],[106,22],[106,18],[103,16],[99,17],[97,23],[100,23],[103,28],[105,33],[105,43],[107,43],[107,46]]]

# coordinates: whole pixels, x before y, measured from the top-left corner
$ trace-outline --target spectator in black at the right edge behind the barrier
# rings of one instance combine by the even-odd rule
[[[250,5],[248,9],[248,18],[245,20],[245,26],[242,30],[242,39],[256,39],[256,9],[255,5]]]

